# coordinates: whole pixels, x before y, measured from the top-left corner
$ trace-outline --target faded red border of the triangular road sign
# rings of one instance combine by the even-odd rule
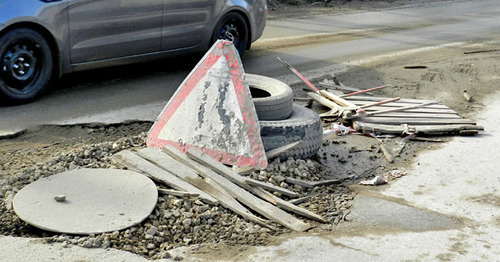
[[[219,60],[226,59],[229,65],[229,74],[231,75],[236,97],[240,108],[242,109],[243,123],[247,127],[248,141],[250,143],[252,157],[234,155],[228,152],[221,152],[210,148],[200,148],[204,153],[217,159],[219,162],[244,166],[251,165],[257,169],[267,167],[267,158],[264,152],[264,146],[260,139],[260,128],[258,126],[258,118],[255,113],[249,88],[244,84],[244,71],[241,67],[239,56],[231,42],[218,41],[198,63],[195,70],[184,80],[177,92],[172,96],[167,106],[160,114],[157,122],[153,125],[149,132],[147,144],[149,147],[163,148],[166,145],[171,145],[177,149],[186,152],[194,145],[180,144],[176,141],[163,140],[158,138],[159,133],[170,120],[174,112],[179,108],[184,99],[191,93],[196,84],[207,74],[212,66]]]

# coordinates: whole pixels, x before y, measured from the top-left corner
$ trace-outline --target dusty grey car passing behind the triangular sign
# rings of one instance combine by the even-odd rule
[[[267,0],[2,0],[0,106],[33,101],[71,72],[206,51],[240,55],[263,33]]]

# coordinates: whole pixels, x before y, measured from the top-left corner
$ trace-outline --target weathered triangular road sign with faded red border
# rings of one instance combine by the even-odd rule
[[[172,96],[149,132],[149,147],[198,147],[225,164],[267,166],[239,55],[219,40]]]

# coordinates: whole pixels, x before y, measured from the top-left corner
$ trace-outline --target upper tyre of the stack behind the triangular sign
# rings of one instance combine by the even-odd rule
[[[246,74],[259,120],[284,120],[292,114],[293,91],[289,85],[267,76]]]

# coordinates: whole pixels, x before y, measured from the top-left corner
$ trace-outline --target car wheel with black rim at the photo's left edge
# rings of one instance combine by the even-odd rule
[[[19,104],[40,96],[52,77],[52,52],[45,38],[28,28],[0,37],[0,101]]]

